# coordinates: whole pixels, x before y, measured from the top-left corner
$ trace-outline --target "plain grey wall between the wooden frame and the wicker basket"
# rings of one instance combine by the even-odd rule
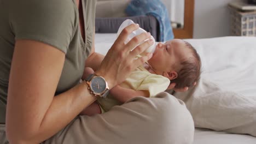
[[[228,3],[236,0],[195,0],[193,38],[230,35]]]

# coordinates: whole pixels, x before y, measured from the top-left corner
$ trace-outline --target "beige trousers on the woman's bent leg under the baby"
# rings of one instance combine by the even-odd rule
[[[183,101],[166,92],[136,97],[95,116],[79,116],[43,143],[187,144],[194,122]]]

